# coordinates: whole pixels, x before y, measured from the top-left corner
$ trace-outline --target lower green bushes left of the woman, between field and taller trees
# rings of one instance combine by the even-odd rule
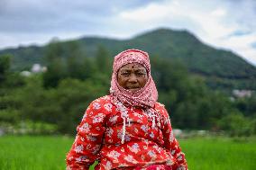
[[[56,124],[61,133],[74,133],[88,103],[104,94],[105,88],[90,80],[67,78],[60,81],[58,88],[44,89],[41,76],[30,77],[27,85],[10,95],[14,98],[0,112],[0,121],[42,121]]]

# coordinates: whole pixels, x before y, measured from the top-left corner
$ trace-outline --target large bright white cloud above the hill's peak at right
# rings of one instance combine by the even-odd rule
[[[239,10],[239,8],[246,7],[248,12],[256,17],[251,10],[253,5],[248,5],[250,3],[252,4],[249,0],[244,4],[239,2],[236,5],[221,0],[151,3],[135,10],[123,11],[119,14],[117,23],[121,25],[125,25],[127,22],[133,23],[131,32],[140,30],[140,28],[152,29],[159,26],[186,29],[195,33],[200,40],[207,44],[215,48],[231,49],[256,65],[256,49],[251,47],[253,40],[256,40],[256,30],[255,28],[251,29],[251,23],[247,23],[251,21],[244,22],[247,17],[246,10]],[[244,21],[239,22],[242,17]],[[238,31],[250,31],[251,33],[246,33],[243,36],[233,34]]]

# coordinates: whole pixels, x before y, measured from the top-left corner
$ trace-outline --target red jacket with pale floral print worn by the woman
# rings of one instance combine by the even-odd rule
[[[122,144],[123,119],[120,108],[109,95],[92,102],[67,155],[67,169],[178,169],[186,170],[187,161],[173,135],[168,112],[156,103],[158,122],[151,121],[142,108],[123,108],[129,115]],[[155,124],[152,126],[152,124]],[[163,168],[168,167],[168,168]]]

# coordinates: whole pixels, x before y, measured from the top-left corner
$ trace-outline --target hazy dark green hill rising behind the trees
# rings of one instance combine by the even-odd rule
[[[84,37],[77,41],[87,57],[95,56],[99,45],[108,49],[112,56],[123,49],[142,49],[148,51],[151,57],[180,60],[190,73],[205,78],[212,88],[256,90],[256,67],[232,51],[207,46],[188,31],[157,29],[128,40]],[[61,43],[65,45],[66,42]],[[4,49],[0,55],[12,54],[13,69],[23,70],[32,67],[33,63],[45,64],[43,56],[46,47]]]

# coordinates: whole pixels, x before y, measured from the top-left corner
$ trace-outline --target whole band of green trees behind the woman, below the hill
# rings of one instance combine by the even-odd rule
[[[111,52],[99,46],[94,57],[86,58],[84,51],[77,41],[53,41],[45,50],[46,72],[27,77],[15,72],[5,75],[0,95],[1,127],[25,127],[34,134],[74,134],[87,105],[109,94],[111,80]],[[159,101],[166,105],[174,128],[232,131],[232,123],[243,120],[247,130],[244,120],[249,117],[254,120],[249,126],[256,129],[255,96],[232,102],[225,94],[208,88],[204,77],[189,74],[181,58],[151,56],[151,68]],[[245,117],[233,119],[229,117],[233,112]],[[244,134],[255,133],[246,130]]]

